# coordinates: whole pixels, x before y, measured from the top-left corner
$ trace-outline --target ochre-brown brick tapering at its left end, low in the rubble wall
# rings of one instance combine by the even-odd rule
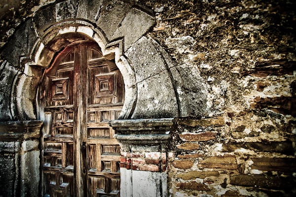
[[[234,155],[224,155],[206,158],[199,162],[198,167],[233,170],[238,166]]]

